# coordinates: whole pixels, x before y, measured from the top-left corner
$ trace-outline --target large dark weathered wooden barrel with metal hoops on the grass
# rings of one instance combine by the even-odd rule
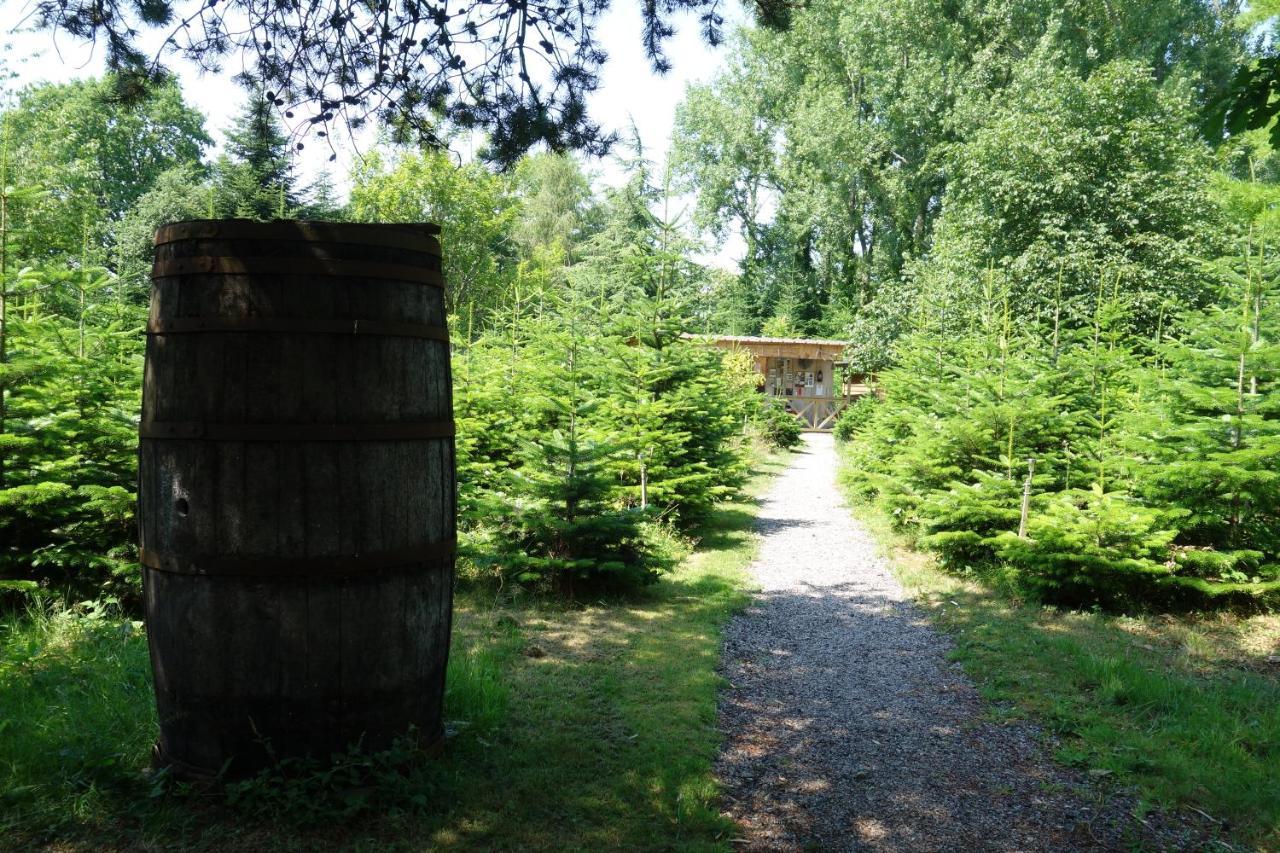
[[[138,514],[157,761],[180,774],[442,736],[456,525],[436,233],[156,232]]]

